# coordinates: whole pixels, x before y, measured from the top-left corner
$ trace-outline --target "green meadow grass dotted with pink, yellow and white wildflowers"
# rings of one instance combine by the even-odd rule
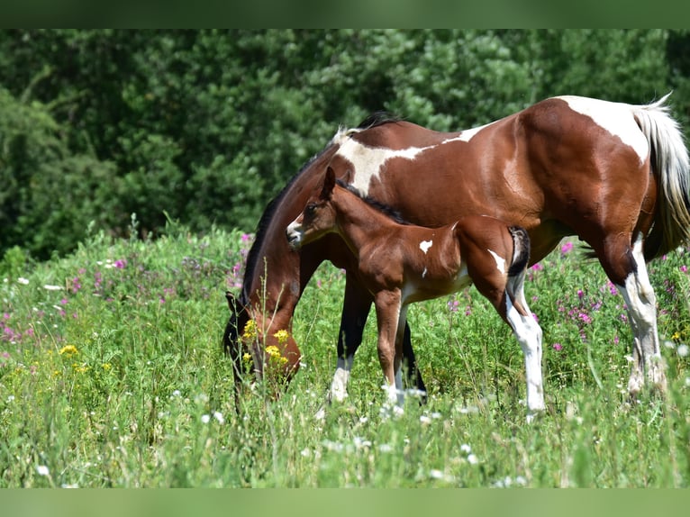
[[[321,407],[335,367],[344,286],[317,271],[295,313],[304,367],[272,402],[259,385],[234,411],[223,293],[250,238],[92,236],[63,259],[0,262],[0,486],[685,487],[690,481],[687,250],[658,259],[669,392],[625,394],[631,333],[622,297],[570,243],[530,271],[544,330],[548,411],[525,423],[522,352],[470,289],[413,305],[428,404],[385,395],[372,314],[350,396]]]

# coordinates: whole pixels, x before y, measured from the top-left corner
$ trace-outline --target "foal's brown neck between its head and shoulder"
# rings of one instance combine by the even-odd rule
[[[345,189],[333,202],[338,213],[338,233],[355,255],[359,255],[359,249],[366,244],[381,239],[398,226],[385,213]]]

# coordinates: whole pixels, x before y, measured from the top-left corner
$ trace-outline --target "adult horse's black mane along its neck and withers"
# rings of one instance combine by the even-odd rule
[[[375,112],[371,113],[366,119],[364,119],[362,122],[359,123],[357,126],[357,130],[359,131],[366,131],[368,129],[375,128],[380,125],[384,125],[386,123],[391,123],[391,122],[400,122],[400,118],[396,117],[395,115],[391,113],[386,113],[386,112]],[[332,143],[332,142],[331,142]],[[257,268],[257,262],[259,261],[259,249],[261,249],[261,246],[266,239],[266,233],[268,231],[268,227],[270,225],[271,220],[273,219],[274,213],[276,213],[277,207],[280,206],[281,202],[286,196],[287,191],[290,189],[291,186],[295,183],[296,179],[298,177],[301,177],[304,172],[310,168],[310,166],[317,160],[322,157],[328,150],[331,150],[331,145],[328,145],[325,149],[323,149],[321,152],[318,154],[314,155],[312,159],[309,159],[304,166],[299,170],[297,174],[295,174],[294,177],[290,179],[290,181],[287,183],[285,187],[274,197],[268,204],[266,205],[266,208],[264,209],[264,213],[261,214],[261,218],[259,219],[259,224],[257,225],[257,229],[255,231],[255,238],[254,238],[254,243],[251,245],[250,252],[247,255],[247,262],[245,263],[244,267],[244,278],[242,280],[242,292],[241,292],[241,305],[245,305],[249,302],[250,299],[250,288],[251,288],[251,282],[252,278],[254,277],[254,273]],[[376,202],[373,202],[376,203]]]

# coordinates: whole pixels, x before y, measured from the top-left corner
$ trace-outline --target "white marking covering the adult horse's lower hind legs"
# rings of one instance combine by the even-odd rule
[[[628,305],[633,334],[633,361],[628,391],[631,395],[636,395],[640,392],[645,377],[652,385],[665,390],[666,375],[658,343],[657,298],[649,282],[641,238],[635,241],[632,257],[637,271],[625,278],[625,286],[616,287]]]

